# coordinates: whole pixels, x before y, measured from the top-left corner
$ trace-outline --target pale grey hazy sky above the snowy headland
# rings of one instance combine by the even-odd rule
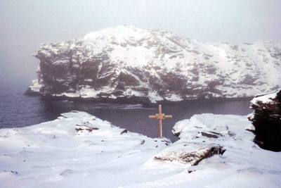
[[[281,41],[281,0],[0,0],[0,81],[29,83],[41,43],[120,24],[210,42]]]

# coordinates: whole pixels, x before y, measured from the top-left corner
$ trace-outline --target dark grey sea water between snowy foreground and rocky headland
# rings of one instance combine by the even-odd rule
[[[113,125],[123,127],[131,132],[145,134],[148,137],[159,137],[158,120],[148,118],[155,115],[158,108],[143,108],[141,105],[120,104],[79,104],[69,101],[44,101],[39,96],[24,96],[28,85],[0,84],[0,128],[26,127],[49,120],[55,120],[60,113],[86,111]],[[247,115],[251,113],[249,100],[198,102],[180,106],[162,105],[162,113],[173,115],[163,121],[163,137],[172,142],[177,138],[171,129],[179,120],[190,118],[199,113]]]

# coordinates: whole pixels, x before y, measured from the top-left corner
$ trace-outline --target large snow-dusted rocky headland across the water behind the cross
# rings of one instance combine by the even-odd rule
[[[182,101],[281,87],[280,42],[220,44],[119,25],[42,44],[29,93],[79,99]]]

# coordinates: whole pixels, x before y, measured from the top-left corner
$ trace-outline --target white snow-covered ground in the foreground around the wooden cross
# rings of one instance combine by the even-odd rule
[[[260,149],[240,115],[194,115],[169,144],[84,112],[0,130],[0,187],[280,187],[281,152]],[[161,161],[167,152],[221,145],[198,165]],[[174,156],[176,157],[176,156]]]

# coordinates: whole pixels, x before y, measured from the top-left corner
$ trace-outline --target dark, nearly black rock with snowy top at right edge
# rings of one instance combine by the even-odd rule
[[[281,151],[281,90],[256,95],[251,100],[254,113],[248,119],[254,125],[254,142],[263,149]]]

